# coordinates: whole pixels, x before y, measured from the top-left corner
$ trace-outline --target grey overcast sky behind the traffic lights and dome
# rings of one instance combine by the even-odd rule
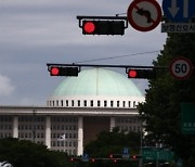
[[[64,79],[50,77],[47,63],[75,63],[162,50],[167,35],[160,33],[160,25],[147,33],[129,25],[125,36],[84,36],[78,27],[77,15],[114,16],[126,13],[131,2],[0,0],[0,105],[44,105]],[[161,5],[161,0],[158,2]],[[152,65],[157,55],[154,52],[90,64]],[[125,69],[119,72],[126,75]],[[146,81],[133,81],[143,92]]]

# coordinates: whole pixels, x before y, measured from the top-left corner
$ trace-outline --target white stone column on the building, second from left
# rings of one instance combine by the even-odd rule
[[[51,117],[46,117],[46,145],[51,149]]]

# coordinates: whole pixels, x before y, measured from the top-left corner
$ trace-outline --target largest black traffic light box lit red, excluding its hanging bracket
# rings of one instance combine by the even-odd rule
[[[123,35],[125,21],[82,21],[83,35]]]

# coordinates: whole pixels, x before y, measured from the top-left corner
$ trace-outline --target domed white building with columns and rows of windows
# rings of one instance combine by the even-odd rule
[[[0,138],[81,155],[101,131],[140,131],[136,105],[142,102],[144,97],[126,76],[104,68],[81,70],[65,78],[46,106],[0,106]]]

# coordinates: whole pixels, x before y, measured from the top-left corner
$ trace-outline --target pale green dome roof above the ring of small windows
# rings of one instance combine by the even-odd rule
[[[78,77],[67,77],[52,95],[143,97],[126,76],[105,68],[81,70]]]

